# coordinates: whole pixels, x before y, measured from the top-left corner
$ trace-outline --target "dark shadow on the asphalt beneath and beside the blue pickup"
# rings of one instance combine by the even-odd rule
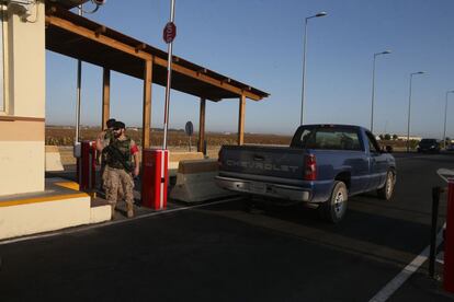
[[[363,202],[366,201],[366,202]],[[382,208],[382,209],[379,209]],[[430,225],[411,221],[416,213],[398,209],[391,202],[359,196],[349,200],[345,219],[338,224],[322,221],[316,209],[300,205],[276,206],[256,200],[251,212],[245,200],[204,207],[205,213],[239,220],[243,223],[298,237],[329,248],[352,253],[393,265],[405,266],[429,244]],[[429,223],[430,216],[427,217]]]

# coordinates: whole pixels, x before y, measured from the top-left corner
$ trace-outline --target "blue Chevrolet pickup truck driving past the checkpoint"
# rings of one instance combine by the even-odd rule
[[[290,147],[223,146],[216,183],[228,190],[317,207],[326,220],[343,219],[350,196],[376,190],[389,200],[396,161],[359,126],[305,125]]]

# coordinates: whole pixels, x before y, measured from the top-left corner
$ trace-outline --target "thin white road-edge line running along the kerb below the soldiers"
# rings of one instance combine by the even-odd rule
[[[86,225],[86,226],[80,225],[80,226],[75,226],[77,229],[56,231],[56,232],[52,232],[52,233],[48,233],[48,234],[37,234],[37,235],[30,235],[30,236],[23,236],[23,237],[18,237],[18,239],[11,239],[11,240],[5,240],[5,241],[0,241],[0,245],[7,245],[7,244],[11,244],[11,243],[16,243],[16,242],[22,242],[22,241],[31,241],[31,240],[36,240],[36,239],[53,237],[53,236],[58,236],[58,235],[64,235],[64,234],[65,235],[66,234],[73,234],[73,233],[79,233],[79,232],[93,230],[93,229],[98,229],[98,228],[104,228],[104,226],[109,226],[109,225],[126,223],[128,221],[135,221],[135,220],[144,219],[144,218],[148,218],[148,217],[152,217],[152,216],[159,216],[159,214],[167,214],[167,213],[179,212],[179,211],[184,211],[184,210],[191,210],[191,209],[202,208],[202,207],[206,207],[206,206],[220,205],[220,204],[226,204],[226,202],[241,200],[241,199],[243,199],[243,197],[240,196],[240,197],[224,199],[224,200],[219,200],[219,201],[213,201],[213,202],[201,204],[201,205],[195,205],[195,206],[188,206],[188,207],[181,207],[181,208],[174,208],[174,209],[169,209],[169,210],[161,210],[161,211],[150,212],[150,213],[136,216],[134,218],[128,218],[128,219],[124,219],[124,220],[106,221],[106,222],[101,222],[101,223],[95,223],[95,224],[89,224],[89,225]]]

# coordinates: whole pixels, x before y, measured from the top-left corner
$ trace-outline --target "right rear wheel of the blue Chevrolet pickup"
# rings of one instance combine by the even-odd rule
[[[342,182],[334,182],[331,197],[320,205],[319,209],[321,217],[331,223],[340,222],[345,216],[348,199],[349,195],[345,184]]]

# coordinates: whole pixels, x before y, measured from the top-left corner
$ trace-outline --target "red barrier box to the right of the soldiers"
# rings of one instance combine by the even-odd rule
[[[169,150],[144,149],[141,162],[141,205],[155,210],[166,209]]]

